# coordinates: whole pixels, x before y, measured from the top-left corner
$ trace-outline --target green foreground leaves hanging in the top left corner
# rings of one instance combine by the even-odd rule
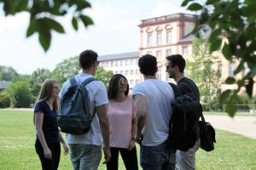
[[[79,30],[79,21],[85,27],[93,25],[90,17],[83,14],[85,8],[90,8],[90,3],[86,0],[0,0],[1,6],[5,15],[20,12],[30,14],[26,37],[38,33],[44,51],[49,49],[52,31],[65,33],[63,26],[56,19],[71,15],[71,24],[75,31]]]

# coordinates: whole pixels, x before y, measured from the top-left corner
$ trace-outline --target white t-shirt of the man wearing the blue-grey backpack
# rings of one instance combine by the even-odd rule
[[[89,74],[79,73],[75,76],[77,82],[84,82],[85,79],[92,77]],[[65,94],[67,88],[71,83],[69,80],[63,83],[60,92],[60,98]],[[90,95],[90,108],[92,110],[92,114],[95,111],[95,106],[98,105],[107,105],[108,104],[108,94],[107,89],[104,84],[100,81],[93,81],[86,85],[86,88]],[[67,133],[67,144],[95,144],[102,145],[102,132],[100,128],[99,118],[97,114],[95,114],[91,124],[90,130],[88,133],[84,133],[82,135],[73,135]]]

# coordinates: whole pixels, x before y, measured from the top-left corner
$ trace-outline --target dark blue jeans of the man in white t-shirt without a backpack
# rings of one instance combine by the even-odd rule
[[[141,145],[141,166],[143,170],[174,170],[175,156],[168,142],[156,146]]]

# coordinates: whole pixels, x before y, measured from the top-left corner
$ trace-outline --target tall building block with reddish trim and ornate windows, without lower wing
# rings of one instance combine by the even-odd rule
[[[192,52],[191,31],[195,26],[195,15],[171,14],[142,20],[140,27],[140,56],[153,54],[158,61],[157,77],[168,80],[166,56],[182,54],[186,59]]]

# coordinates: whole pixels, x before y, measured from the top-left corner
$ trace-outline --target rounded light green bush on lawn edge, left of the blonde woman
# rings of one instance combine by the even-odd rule
[[[32,102],[30,83],[27,81],[13,82],[8,88],[13,107],[29,107]]]

